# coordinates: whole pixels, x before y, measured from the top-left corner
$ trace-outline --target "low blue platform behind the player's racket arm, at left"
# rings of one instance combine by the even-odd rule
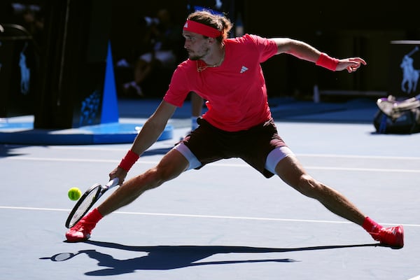
[[[31,116],[0,122],[0,144],[90,145],[130,144],[142,123],[103,123],[65,130],[34,129]],[[172,139],[174,127],[167,125],[158,141]]]

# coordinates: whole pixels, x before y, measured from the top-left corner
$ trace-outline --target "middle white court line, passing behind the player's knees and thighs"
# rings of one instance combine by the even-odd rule
[[[34,161],[52,161],[52,162],[114,162],[118,163],[119,160],[94,160],[94,159],[80,159],[80,158],[32,158],[32,157],[13,157],[10,160],[34,160]],[[156,165],[158,161],[137,161],[144,165]],[[213,162],[211,166],[219,167],[249,167],[249,165],[241,163],[223,163]],[[420,173],[420,169],[383,169],[383,168],[353,168],[353,167],[311,167],[306,166],[305,169],[318,169],[318,170],[341,170],[341,171],[356,171],[356,172],[398,172],[398,173]]]

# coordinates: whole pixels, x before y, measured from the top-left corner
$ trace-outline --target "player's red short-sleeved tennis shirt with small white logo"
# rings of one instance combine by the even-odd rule
[[[271,118],[260,63],[276,55],[277,46],[269,38],[249,34],[224,43],[221,66],[197,71],[202,61],[179,64],[164,100],[181,107],[188,92],[196,92],[207,100],[202,117],[211,125],[228,132],[247,130]]]

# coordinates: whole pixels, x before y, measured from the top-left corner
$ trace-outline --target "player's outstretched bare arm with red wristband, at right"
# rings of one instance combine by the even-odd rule
[[[356,71],[361,64],[366,65],[365,60],[360,57],[334,59],[317,50],[308,43],[291,38],[273,38],[273,40],[277,45],[277,54],[287,53],[297,58],[314,62],[317,65],[324,66],[332,71],[342,71],[347,69],[347,71],[351,73]]]

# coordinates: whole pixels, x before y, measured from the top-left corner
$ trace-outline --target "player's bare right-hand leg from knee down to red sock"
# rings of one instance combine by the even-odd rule
[[[363,225],[365,215],[337,190],[333,190],[309,176],[295,157],[289,156],[281,160],[276,166],[276,172],[288,185],[303,195],[318,200],[332,213],[358,225]]]

